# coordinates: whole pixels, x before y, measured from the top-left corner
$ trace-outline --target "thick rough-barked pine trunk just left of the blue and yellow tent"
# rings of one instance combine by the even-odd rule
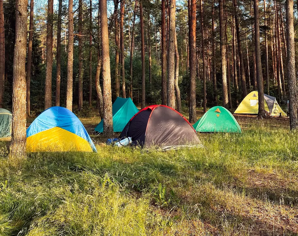
[[[27,0],[16,1],[16,39],[13,58],[12,83],[12,139],[10,156],[24,158],[26,155],[26,45]]]

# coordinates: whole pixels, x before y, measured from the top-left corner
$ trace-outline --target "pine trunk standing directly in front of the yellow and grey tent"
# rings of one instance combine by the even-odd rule
[[[258,83],[258,116],[265,117],[265,102],[264,85],[263,85],[263,72],[261,62],[261,49],[260,49],[260,21],[259,21],[259,2],[254,0],[254,15],[255,15],[255,55],[256,55],[256,74]]]

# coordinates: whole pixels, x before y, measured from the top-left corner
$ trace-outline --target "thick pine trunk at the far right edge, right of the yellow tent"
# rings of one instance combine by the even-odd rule
[[[295,42],[293,0],[286,0],[286,28],[288,50],[288,86],[289,86],[289,116],[290,129],[298,130],[298,89],[295,75]]]

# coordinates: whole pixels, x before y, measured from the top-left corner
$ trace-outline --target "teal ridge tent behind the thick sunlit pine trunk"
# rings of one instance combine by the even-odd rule
[[[122,132],[126,124],[139,110],[130,98],[117,97],[113,104],[113,127],[114,132]],[[95,131],[103,132],[103,120],[95,127]]]

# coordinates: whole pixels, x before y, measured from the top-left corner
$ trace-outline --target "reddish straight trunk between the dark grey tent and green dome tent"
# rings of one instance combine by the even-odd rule
[[[196,1],[189,0],[189,122],[195,123],[196,115]],[[200,1],[200,6],[202,7]],[[203,40],[202,40],[203,42]],[[206,79],[206,78],[205,78]]]

